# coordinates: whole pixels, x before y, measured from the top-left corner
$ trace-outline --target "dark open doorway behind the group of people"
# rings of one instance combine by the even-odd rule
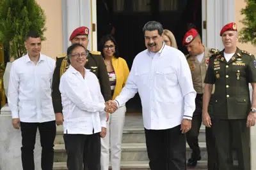
[[[131,69],[134,57],[146,48],[142,28],[150,20],[161,22],[164,29],[172,31],[179,50],[186,54],[182,39],[188,23],[195,24],[200,34],[202,32],[202,0],[98,0],[98,42],[115,27],[120,57]],[[126,105],[128,112],[141,111],[138,94]]]

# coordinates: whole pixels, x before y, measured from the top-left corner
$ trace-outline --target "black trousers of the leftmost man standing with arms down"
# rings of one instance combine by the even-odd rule
[[[22,136],[21,160],[24,170],[35,170],[34,148],[36,143],[37,128],[40,132],[42,146],[42,170],[52,170],[54,157],[54,139],[56,136],[56,122],[26,123],[20,122]]]

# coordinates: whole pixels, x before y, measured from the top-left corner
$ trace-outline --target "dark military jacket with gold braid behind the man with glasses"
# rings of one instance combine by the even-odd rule
[[[54,113],[62,113],[61,94],[60,94],[60,77],[68,69],[69,63],[67,54],[64,53],[56,58],[56,67],[52,77],[52,104]],[[111,89],[109,84],[109,76],[104,64],[104,60],[100,52],[90,51],[86,58],[86,69],[90,69],[99,79],[100,90],[105,101],[111,99]]]

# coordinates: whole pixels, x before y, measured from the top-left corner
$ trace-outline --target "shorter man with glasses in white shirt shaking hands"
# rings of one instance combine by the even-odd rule
[[[60,79],[68,170],[83,169],[83,165],[100,170],[100,131],[106,127],[104,110],[111,110],[104,104],[97,77],[84,68],[87,55],[83,45],[68,47],[70,67]]]

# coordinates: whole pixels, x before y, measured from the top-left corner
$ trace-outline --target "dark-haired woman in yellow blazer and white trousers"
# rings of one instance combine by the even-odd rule
[[[109,74],[112,99],[115,99],[125,86],[125,81],[129,75],[129,67],[124,59],[118,57],[118,46],[115,38],[111,35],[104,36],[99,43],[98,50],[101,51],[102,57]],[[126,107],[122,106],[109,115],[107,122],[106,136],[101,138],[101,170],[109,169],[109,143],[111,150],[112,170],[120,170],[121,161],[121,143],[125,120]],[[103,128],[104,131],[104,128]],[[102,134],[101,134],[102,136]],[[104,134],[103,134],[104,136]]]

